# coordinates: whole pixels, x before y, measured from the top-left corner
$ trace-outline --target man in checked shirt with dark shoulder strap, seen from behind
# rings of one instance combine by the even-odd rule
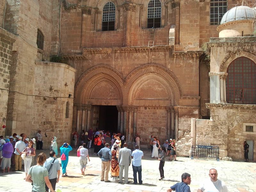
[[[51,164],[52,164],[52,167],[50,169]],[[60,162],[56,158],[54,151],[50,151],[50,157],[46,159],[44,163],[44,168],[47,169],[50,183],[52,184],[52,188],[55,190],[56,183],[58,183],[60,179]],[[49,188],[46,185],[45,185],[45,191],[46,192],[49,191]]]

